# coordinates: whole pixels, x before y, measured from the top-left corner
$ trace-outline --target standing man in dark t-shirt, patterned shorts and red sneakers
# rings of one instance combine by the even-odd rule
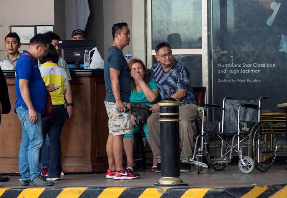
[[[104,60],[105,106],[109,117],[109,135],[106,144],[109,168],[106,178],[135,179],[139,174],[123,168],[123,136],[131,134],[131,112],[127,112],[127,109],[131,108],[129,100],[131,76],[122,52],[131,38],[127,23],[113,25],[112,34],[113,45],[108,49]]]

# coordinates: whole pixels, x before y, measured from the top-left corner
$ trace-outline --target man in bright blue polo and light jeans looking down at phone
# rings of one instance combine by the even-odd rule
[[[44,55],[49,45],[50,41],[44,34],[35,35],[30,40],[27,51],[23,50],[15,68],[17,100],[14,111],[22,122],[19,171],[23,186],[54,185],[41,176],[39,163],[40,148],[43,144],[41,114],[45,110],[46,90],[51,92],[54,86],[45,86],[37,59]]]

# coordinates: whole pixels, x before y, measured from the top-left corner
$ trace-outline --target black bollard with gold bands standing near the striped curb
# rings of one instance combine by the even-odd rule
[[[164,98],[160,106],[160,157],[161,176],[156,186],[187,186],[180,176],[179,158],[179,102],[175,98]]]

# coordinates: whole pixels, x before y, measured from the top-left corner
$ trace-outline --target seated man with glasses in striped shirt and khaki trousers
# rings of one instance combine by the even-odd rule
[[[192,144],[194,130],[191,124],[197,117],[197,104],[190,81],[190,74],[185,64],[173,60],[172,51],[168,42],[161,42],[156,45],[156,60],[150,69],[148,76],[156,79],[156,84],[161,98],[172,97],[181,102],[179,106],[179,135],[181,137],[181,172],[190,172],[192,156]],[[159,106],[151,105],[153,113],[147,120],[148,131],[153,146],[153,154],[158,161],[156,173],[161,172],[160,165],[160,122]]]

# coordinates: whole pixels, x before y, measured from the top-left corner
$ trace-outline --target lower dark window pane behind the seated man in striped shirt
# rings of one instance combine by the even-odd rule
[[[202,56],[174,55],[173,59],[187,66],[193,87],[202,87]],[[152,56],[152,64],[155,63],[157,63],[156,57]]]

